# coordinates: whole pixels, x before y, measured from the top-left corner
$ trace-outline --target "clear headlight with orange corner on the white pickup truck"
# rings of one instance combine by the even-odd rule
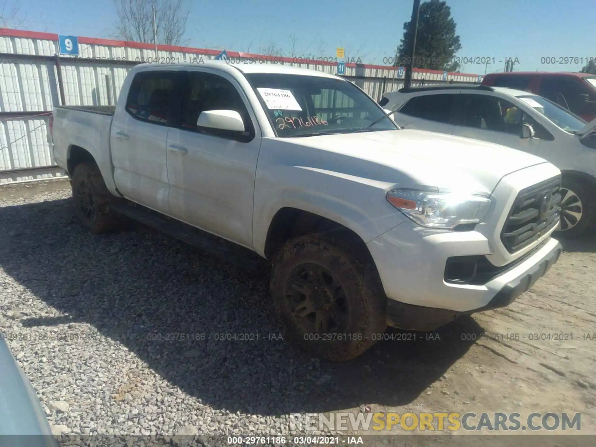
[[[479,224],[491,206],[491,200],[480,195],[412,190],[389,191],[387,201],[418,225],[430,228]]]

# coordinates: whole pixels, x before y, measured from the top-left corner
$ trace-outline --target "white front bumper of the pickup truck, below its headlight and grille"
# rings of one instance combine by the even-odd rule
[[[485,284],[452,284],[444,278],[449,257],[492,252],[480,232],[437,231],[405,221],[367,246],[390,305],[396,301],[458,314],[506,306],[544,275],[561,252],[560,243],[548,238]]]

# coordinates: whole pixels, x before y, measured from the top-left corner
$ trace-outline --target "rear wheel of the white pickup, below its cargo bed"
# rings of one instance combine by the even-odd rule
[[[119,228],[122,219],[110,209],[112,195],[95,163],[78,164],[71,185],[76,215],[85,228],[95,234]]]

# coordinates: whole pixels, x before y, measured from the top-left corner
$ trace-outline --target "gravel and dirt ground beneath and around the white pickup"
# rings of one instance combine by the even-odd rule
[[[68,182],[0,188],[0,222],[0,331],[54,433],[213,445],[333,411],[581,411],[595,427],[594,344],[579,340],[596,332],[594,241],[509,308],[330,364],[281,339],[268,278],[142,226],[88,234]],[[485,331],[575,339],[462,340]]]

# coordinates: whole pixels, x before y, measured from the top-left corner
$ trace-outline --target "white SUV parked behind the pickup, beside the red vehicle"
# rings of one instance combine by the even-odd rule
[[[561,233],[575,237],[594,222],[596,120],[586,123],[546,98],[502,87],[404,88],[379,104],[408,129],[481,139],[548,160],[563,173]]]

